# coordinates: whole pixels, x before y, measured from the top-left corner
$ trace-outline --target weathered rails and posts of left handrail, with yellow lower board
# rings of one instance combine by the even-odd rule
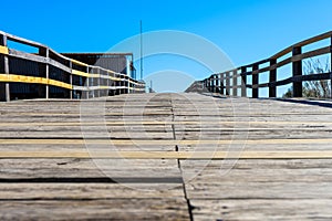
[[[8,40],[19,42],[23,45],[37,48],[39,49],[39,53],[31,54],[9,49]],[[2,60],[0,60],[0,63],[6,67],[4,73],[0,73],[2,74],[2,77],[0,77],[0,83],[3,82],[6,84],[6,101],[10,101],[9,85],[12,83],[32,83],[45,85],[45,98],[49,98],[49,86],[56,86],[62,87],[63,90],[69,90],[70,98],[72,98],[73,96],[73,91],[80,91],[80,93],[85,92],[85,96],[83,96],[85,98],[89,98],[89,93],[92,92],[101,94],[100,91],[104,91],[104,94],[106,95],[110,94],[110,92],[107,91],[114,91],[114,95],[145,92],[145,83],[142,81],[134,80],[125,74],[117,73],[112,70],[89,65],[83,62],[66,57],[46,45],[2,31],[0,31],[0,54],[3,55],[0,56],[2,57]],[[40,67],[38,72],[31,71],[31,69],[29,71],[29,67],[27,66],[28,71],[24,71],[24,73],[22,74],[11,73],[9,66],[10,60],[12,60],[13,62],[27,61],[30,62],[30,64],[32,63]],[[21,63],[19,65],[21,65]],[[64,73],[68,76],[66,82],[59,81],[58,78],[58,78],[55,76],[54,78],[54,75],[50,75],[51,67]],[[92,70],[94,71],[92,72]],[[7,75],[7,77],[4,77],[3,74]],[[90,80],[97,82],[98,85],[89,85]],[[84,82],[86,84],[84,84]]]

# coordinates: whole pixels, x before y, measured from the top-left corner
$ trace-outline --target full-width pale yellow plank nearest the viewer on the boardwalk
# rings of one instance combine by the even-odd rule
[[[324,151],[0,151],[0,158],[96,158],[96,159],[331,159]]]

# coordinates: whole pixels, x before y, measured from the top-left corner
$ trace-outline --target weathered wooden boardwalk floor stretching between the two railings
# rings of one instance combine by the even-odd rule
[[[331,106],[198,94],[1,103],[0,219],[331,220]]]

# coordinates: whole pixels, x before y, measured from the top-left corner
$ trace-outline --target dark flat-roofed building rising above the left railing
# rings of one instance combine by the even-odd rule
[[[89,65],[101,66],[136,78],[133,53],[61,53]]]

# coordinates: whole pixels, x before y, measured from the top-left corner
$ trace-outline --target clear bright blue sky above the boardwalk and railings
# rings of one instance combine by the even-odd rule
[[[331,9],[331,0],[17,0],[1,2],[0,30],[58,52],[105,52],[138,34],[143,20],[144,32],[179,30],[201,35],[239,66],[332,30]],[[178,62],[168,60],[158,65],[147,61],[145,74],[177,70]],[[208,74],[190,65],[177,71],[194,78]]]

